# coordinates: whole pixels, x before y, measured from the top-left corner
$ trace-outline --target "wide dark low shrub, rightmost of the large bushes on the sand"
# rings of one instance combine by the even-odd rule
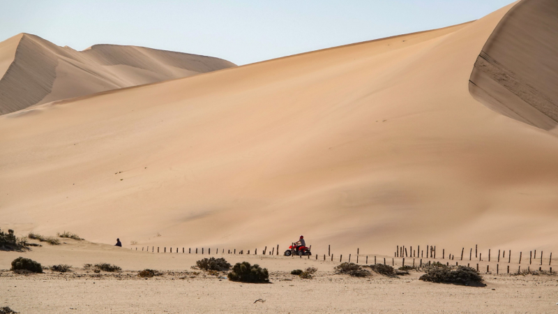
[[[471,285],[483,282],[483,277],[472,267],[466,266],[446,266],[438,263],[435,267],[427,267],[426,274],[421,276],[421,281],[431,283],[457,283],[461,285]]]

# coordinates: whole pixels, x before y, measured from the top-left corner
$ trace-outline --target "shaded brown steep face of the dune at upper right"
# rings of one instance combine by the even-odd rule
[[[558,5],[524,0],[499,22],[476,60],[471,94],[538,128],[558,124]]]

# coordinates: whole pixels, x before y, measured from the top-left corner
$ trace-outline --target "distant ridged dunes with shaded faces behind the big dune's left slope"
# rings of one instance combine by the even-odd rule
[[[0,114],[232,66],[223,59],[135,46],[94,45],[78,52],[21,33],[0,43]]]

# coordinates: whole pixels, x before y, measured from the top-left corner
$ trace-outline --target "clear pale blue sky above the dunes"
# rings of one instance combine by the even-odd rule
[[[32,33],[238,65],[477,20],[511,0],[0,0],[0,40]]]

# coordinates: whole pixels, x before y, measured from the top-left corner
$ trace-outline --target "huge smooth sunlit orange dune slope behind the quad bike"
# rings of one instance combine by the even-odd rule
[[[2,224],[140,246],[556,249],[558,138],[468,89],[511,8],[5,114]]]

